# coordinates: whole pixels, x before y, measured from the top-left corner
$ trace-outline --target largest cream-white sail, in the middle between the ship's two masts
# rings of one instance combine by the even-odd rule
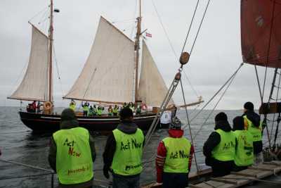
[[[64,98],[123,103],[133,101],[134,43],[100,18],[90,55]]]

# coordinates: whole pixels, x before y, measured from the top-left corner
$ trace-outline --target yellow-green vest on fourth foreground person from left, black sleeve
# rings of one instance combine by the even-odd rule
[[[235,156],[235,134],[216,130],[221,136],[221,142],[211,151],[212,157],[218,161],[233,161]]]

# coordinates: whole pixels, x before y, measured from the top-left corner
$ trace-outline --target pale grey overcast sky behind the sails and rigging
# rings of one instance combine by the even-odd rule
[[[160,73],[169,85],[179,67],[177,58],[197,1],[153,0],[153,2],[157,6],[177,57],[162,30],[152,0],[143,0],[142,27],[152,34],[147,44]],[[19,105],[19,101],[8,100],[6,96],[9,96],[20,83],[29,58],[31,27],[27,21],[44,8],[46,10],[48,4],[49,1],[46,0],[0,1],[0,106]],[[55,13],[54,18],[54,45],[63,94],[65,94],[86,62],[100,15],[110,21],[115,21],[115,25],[120,30],[125,30],[126,35],[133,37],[131,33],[135,24],[132,20],[136,18],[136,0],[54,0],[54,4],[55,8],[60,9],[60,13]],[[200,0],[186,51],[190,51],[206,4],[207,0]],[[38,24],[42,18],[44,18],[44,11],[31,22],[45,31],[46,22],[43,20],[41,24]],[[235,72],[241,62],[240,1],[211,1],[190,62],[185,65],[185,73],[196,92],[207,101]],[[61,100],[62,89],[56,73],[57,71],[54,70],[55,105],[64,106],[67,101]],[[259,68],[260,77],[264,76],[263,73],[264,68]],[[270,69],[268,85],[270,85],[272,75],[273,70]],[[187,101],[197,101],[197,96],[184,75],[183,84]],[[268,92],[269,87],[266,87],[266,93]],[[174,96],[174,101],[177,104],[183,104],[179,89]],[[237,74],[218,108],[240,109],[245,101],[253,101],[256,107],[260,104],[254,66],[247,64],[244,64]],[[212,105],[208,108],[212,108]]]

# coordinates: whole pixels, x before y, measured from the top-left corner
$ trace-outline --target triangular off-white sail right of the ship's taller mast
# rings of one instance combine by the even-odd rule
[[[168,89],[145,41],[143,41],[143,58],[141,62],[138,100],[143,101],[148,106],[161,106]],[[169,104],[174,104],[174,101],[171,99]]]

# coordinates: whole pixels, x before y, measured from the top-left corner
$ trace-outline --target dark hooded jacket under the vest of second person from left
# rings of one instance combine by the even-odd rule
[[[122,123],[119,123],[119,125],[117,126],[117,129],[126,134],[134,134],[138,129],[138,126],[135,123],[131,123],[131,121],[122,121]],[[145,143],[143,141],[143,146],[144,144]],[[107,171],[110,170],[110,166],[112,164],[115,151],[116,151],[116,140],[113,135],[113,132],[111,132],[110,135],[107,137],[107,142],[105,144],[105,151],[103,152],[104,170]]]

